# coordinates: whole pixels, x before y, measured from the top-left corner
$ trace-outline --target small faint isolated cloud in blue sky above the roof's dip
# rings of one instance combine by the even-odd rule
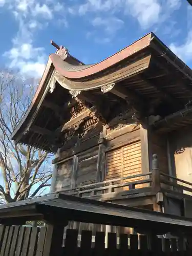
[[[96,17],[92,21],[93,26],[101,27],[107,33],[115,33],[117,30],[121,29],[123,24],[124,24],[123,20],[116,17],[109,17],[109,18]]]

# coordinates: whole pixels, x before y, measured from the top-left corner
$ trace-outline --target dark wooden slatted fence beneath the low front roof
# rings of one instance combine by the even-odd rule
[[[53,237],[54,236],[54,237]],[[65,239],[63,233],[53,232],[50,227],[0,226],[1,256],[48,256],[53,255],[184,255],[191,251],[191,240],[160,239],[157,236],[127,235],[108,233],[105,243],[105,233],[67,229]],[[54,246],[63,240],[62,247]],[[51,247],[54,251],[50,253]]]

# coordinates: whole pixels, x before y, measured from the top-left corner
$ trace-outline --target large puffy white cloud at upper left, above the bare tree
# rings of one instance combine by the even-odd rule
[[[58,17],[57,25],[62,21],[67,26],[64,5],[54,0],[6,0],[6,4],[18,23],[12,48],[4,54],[7,66],[18,69],[27,77],[41,77],[48,56],[43,47],[34,46],[35,34],[47,26],[55,14]]]

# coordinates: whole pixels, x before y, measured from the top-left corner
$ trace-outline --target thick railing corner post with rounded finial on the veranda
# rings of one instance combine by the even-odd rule
[[[160,169],[157,154],[153,155],[152,160],[152,190],[155,193],[158,193],[161,190]]]

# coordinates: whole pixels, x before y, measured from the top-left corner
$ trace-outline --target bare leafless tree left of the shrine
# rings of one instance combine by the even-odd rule
[[[50,186],[50,155],[10,139],[31,103],[35,84],[12,72],[0,72],[0,197],[4,203],[39,195]]]

